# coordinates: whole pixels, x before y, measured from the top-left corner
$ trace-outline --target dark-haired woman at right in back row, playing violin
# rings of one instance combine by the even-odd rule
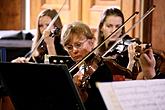
[[[107,8],[100,19],[98,25],[98,44],[103,42],[110,34],[112,34],[117,28],[124,23],[124,15],[118,8]],[[125,34],[125,27],[119,30],[114,36],[108,39],[104,45],[102,45],[97,53],[102,56],[123,34]],[[130,69],[132,71],[132,65],[134,62],[129,60],[128,46],[131,43],[140,43],[138,39],[133,39],[129,35],[126,35],[121,42],[114,46],[114,48],[105,56],[111,57],[117,64],[122,67]],[[130,61],[130,62],[129,62]],[[132,62],[131,62],[132,61]]]

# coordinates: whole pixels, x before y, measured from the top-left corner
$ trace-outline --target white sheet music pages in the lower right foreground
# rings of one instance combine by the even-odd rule
[[[108,110],[165,110],[165,79],[97,82]]]

